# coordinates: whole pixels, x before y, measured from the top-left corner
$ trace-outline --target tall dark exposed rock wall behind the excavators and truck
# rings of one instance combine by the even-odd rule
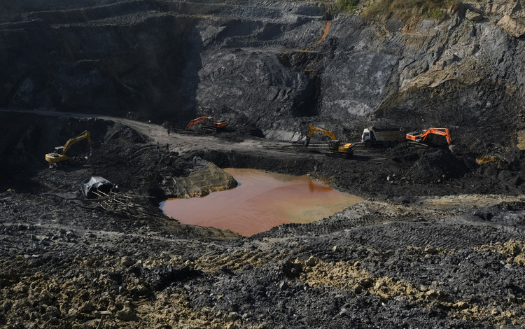
[[[479,142],[505,144],[523,128],[518,1],[465,3],[441,22],[295,1],[3,6],[0,106],[132,111],[181,127],[214,116],[285,140],[312,121],[340,139],[373,123],[447,126],[470,143],[488,126],[500,134]]]

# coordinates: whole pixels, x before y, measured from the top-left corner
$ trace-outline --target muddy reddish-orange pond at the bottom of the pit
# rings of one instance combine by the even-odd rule
[[[160,209],[183,224],[232,230],[244,236],[283,223],[310,223],[363,201],[307,176],[285,176],[254,169],[225,169],[237,188],[206,197],[169,199]]]

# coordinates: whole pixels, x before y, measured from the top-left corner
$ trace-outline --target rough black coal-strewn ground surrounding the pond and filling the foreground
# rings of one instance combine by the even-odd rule
[[[86,123],[69,124],[75,130]],[[0,197],[5,328],[525,323],[521,151],[484,166],[477,155],[406,145],[358,148],[350,160],[314,157],[318,151],[301,146],[300,156],[289,158],[250,150],[160,155],[130,128],[89,124],[104,136],[93,158],[79,155],[64,171],[29,161],[25,173],[36,174],[25,177],[18,194]],[[62,134],[57,143],[70,136]],[[311,174],[367,200],[323,221],[247,238],[180,225],[160,213],[167,196],[159,186],[165,176],[188,174],[196,155],[219,167]],[[118,182],[134,195],[134,207],[108,211],[83,200],[78,182],[92,174]],[[458,206],[424,203],[454,197]]]

